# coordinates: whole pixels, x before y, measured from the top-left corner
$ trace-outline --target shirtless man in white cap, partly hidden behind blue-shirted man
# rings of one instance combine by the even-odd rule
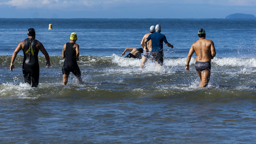
[[[145,65],[145,63],[148,61],[148,59],[152,59],[152,54],[151,54],[151,51],[152,51],[152,43],[151,43],[151,40],[149,40],[148,42],[147,42],[147,44],[148,44],[148,52],[146,52],[146,47],[145,47],[145,45],[144,45],[144,42],[145,42],[145,40],[148,38],[148,36],[150,35],[150,34],[153,34],[156,30],[155,30],[155,26],[151,26],[150,28],[149,28],[149,33],[147,33],[147,34],[145,34],[144,36],[143,36],[143,38],[142,38],[142,40],[141,40],[141,42],[140,42],[140,45],[144,48],[143,49],[143,54],[142,54],[142,59],[141,59],[141,66],[140,66],[140,68],[143,68],[144,67],[144,65]]]

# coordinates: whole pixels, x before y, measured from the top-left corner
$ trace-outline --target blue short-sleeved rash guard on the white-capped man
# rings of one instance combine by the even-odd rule
[[[165,44],[167,44],[167,40],[166,37],[159,33],[159,32],[155,32],[153,34],[150,34],[147,38],[147,40],[151,40],[152,41],[152,52],[159,52],[159,51],[163,51],[163,42]]]

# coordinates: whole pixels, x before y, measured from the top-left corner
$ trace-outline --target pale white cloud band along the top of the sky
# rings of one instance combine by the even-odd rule
[[[14,6],[17,8],[42,8],[42,9],[63,9],[73,6],[76,9],[84,9],[90,7],[112,7],[112,6],[125,6],[125,4],[213,4],[213,5],[231,5],[231,6],[256,6],[255,0],[5,0],[0,5]]]

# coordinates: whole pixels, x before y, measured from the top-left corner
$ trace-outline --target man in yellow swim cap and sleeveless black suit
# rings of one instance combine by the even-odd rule
[[[65,58],[64,65],[62,67],[63,85],[68,83],[68,76],[70,72],[76,76],[77,82],[82,84],[81,71],[76,62],[79,60],[79,45],[76,44],[76,40],[76,33],[71,33],[70,41],[63,46],[62,58]]]

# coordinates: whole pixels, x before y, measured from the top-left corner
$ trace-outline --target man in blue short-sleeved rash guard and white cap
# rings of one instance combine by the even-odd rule
[[[162,66],[164,62],[164,53],[163,53],[163,42],[168,46],[173,48],[172,44],[169,44],[166,40],[166,37],[161,34],[161,26],[156,25],[155,27],[156,32],[153,34],[150,34],[148,38],[145,40],[145,47],[146,52],[148,52],[148,45],[147,42],[149,40],[152,41],[152,56],[156,60],[157,64]]]

